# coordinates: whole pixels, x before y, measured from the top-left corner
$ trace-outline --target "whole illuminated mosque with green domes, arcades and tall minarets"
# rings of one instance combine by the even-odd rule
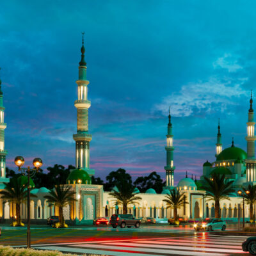
[[[72,222],[74,225],[84,225],[92,223],[92,220],[99,216],[110,217],[116,212],[122,213],[122,205],[113,203],[113,198],[109,196],[109,192],[103,190],[102,185],[93,185],[91,176],[95,170],[90,169],[90,141],[92,135],[89,133],[88,125],[88,109],[91,106],[88,100],[88,84],[86,77],[87,67],[84,60],[84,42],[81,47],[81,61],[78,67],[77,84],[77,100],[74,106],[77,109],[77,132],[73,135],[76,143],[76,169],[72,170],[67,179],[66,186],[72,186],[76,191],[77,202],[68,205],[64,209],[65,220]],[[189,204],[184,204],[178,210],[178,215],[188,219],[211,218],[214,217],[214,202],[207,200],[204,195],[205,191],[200,189],[204,183],[204,177],[210,177],[212,173],[225,173],[228,180],[234,180],[233,186],[236,192],[247,184],[256,184],[256,159],[255,159],[255,140],[254,135],[255,122],[253,120],[253,100],[252,93],[250,99],[250,109],[248,111],[247,124],[247,141],[246,152],[235,147],[232,141],[231,147],[222,150],[220,121],[218,125],[217,143],[216,143],[216,159],[212,162],[206,161],[203,168],[203,175],[200,180],[189,178],[188,175],[181,179],[178,185],[174,186],[175,166],[173,163],[173,152],[175,145],[173,141],[172,122],[169,110],[167,135],[166,135],[166,187],[161,194],[157,194],[152,188],[145,193],[140,193],[136,188],[136,193],[141,196],[141,200],[134,205],[128,205],[128,212],[137,218],[143,216],[154,217],[157,220],[166,220],[173,216],[173,210],[167,209],[163,202],[165,196],[170,194],[170,189],[179,189],[184,192]],[[5,159],[7,151],[4,149],[4,107],[3,92],[1,91],[0,81],[0,189],[4,188],[3,182],[8,182],[5,177]],[[35,184],[33,184],[35,186]],[[117,189],[116,187],[113,189]],[[36,188],[31,191],[37,197],[31,200],[31,219],[45,220],[51,215],[58,215],[57,207],[49,207],[44,196],[49,190],[47,188]],[[238,205],[241,204],[243,198],[233,193],[230,200],[221,200],[221,218],[237,219]],[[21,217],[26,218],[26,204],[21,205]],[[253,213],[256,213],[255,205]],[[255,214],[256,215],[256,214]],[[15,216],[15,207],[8,202],[3,202],[0,198],[0,220],[10,219]],[[249,217],[248,205],[245,207],[245,217]]]

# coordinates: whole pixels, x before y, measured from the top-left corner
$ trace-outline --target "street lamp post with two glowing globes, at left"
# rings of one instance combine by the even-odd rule
[[[33,160],[33,165],[35,168],[21,168],[21,166],[25,163],[25,159],[22,156],[15,157],[14,163],[19,167],[19,171],[22,172],[22,175],[28,177],[28,226],[27,226],[27,247],[30,248],[31,245],[31,236],[30,236],[30,177],[33,177],[38,169],[42,166],[43,161],[40,158],[35,158]],[[32,173],[30,174],[30,172]],[[27,174],[26,174],[27,173]]]

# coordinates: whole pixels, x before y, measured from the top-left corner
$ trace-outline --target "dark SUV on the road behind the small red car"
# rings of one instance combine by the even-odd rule
[[[120,226],[121,228],[125,228],[126,226],[131,228],[132,226],[139,228],[140,220],[134,218],[132,214],[113,214],[110,218],[109,223],[113,228]]]

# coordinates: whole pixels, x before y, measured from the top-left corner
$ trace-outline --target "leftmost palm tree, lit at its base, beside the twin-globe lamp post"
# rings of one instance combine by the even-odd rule
[[[15,204],[16,221],[13,221],[12,225],[23,226],[20,218],[20,204],[26,202],[28,192],[27,186],[24,186],[20,179],[13,178],[9,183],[4,182],[4,189],[0,191],[1,198],[10,203]],[[31,197],[36,197],[31,194]],[[15,223],[17,222],[17,223]]]

